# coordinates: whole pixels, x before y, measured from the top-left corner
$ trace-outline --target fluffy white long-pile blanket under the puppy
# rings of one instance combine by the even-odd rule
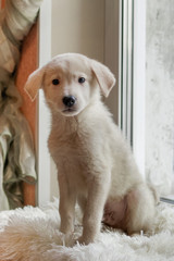
[[[59,232],[58,199],[42,208],[0,212],[0,261],[174,261],[174,208],[157,208],[153,235],[128,237],[108,229],[95,244],[70,246]],[[78,211],[77,211],[78,212]],[[75,237],[82,233],[77,215]]]

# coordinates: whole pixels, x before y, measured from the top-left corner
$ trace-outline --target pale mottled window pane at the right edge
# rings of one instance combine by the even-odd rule
[[[174,1],[147,0],[146,173],[174,194]]]

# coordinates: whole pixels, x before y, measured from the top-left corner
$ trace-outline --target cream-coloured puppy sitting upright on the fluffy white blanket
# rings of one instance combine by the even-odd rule
[[[149,229],[154,215],[154,192],[101,101],[114,84],[101,63],[66,53],[35,71],[25,86],[32,99],[44,89],[52,114],[48,146],[58,167],[61,231],[73,233],[78,201],[84,244],[97,238],[101,221],[133,234]]]

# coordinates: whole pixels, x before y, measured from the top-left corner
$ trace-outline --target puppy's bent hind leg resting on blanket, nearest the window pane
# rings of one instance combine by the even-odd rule
[[[127,195],[126,231],[128,235],[152,231],[156,199],[146,184]]]

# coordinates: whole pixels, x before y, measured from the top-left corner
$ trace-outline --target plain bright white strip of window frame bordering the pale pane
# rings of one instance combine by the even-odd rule
[[[133,150],[146,175],[146,0],[134,0]]]

